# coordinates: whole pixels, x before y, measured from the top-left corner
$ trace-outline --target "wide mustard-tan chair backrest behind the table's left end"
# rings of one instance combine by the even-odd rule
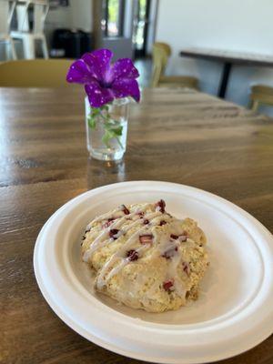
[[[0,63],[2,87],[67,86],[66,73],[73,60],[29,59]]]

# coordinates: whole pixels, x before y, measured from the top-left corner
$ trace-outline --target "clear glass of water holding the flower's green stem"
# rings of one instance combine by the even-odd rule
[[[126,151],[128,98],[92,107],[86,97],[86,142],[89,155],[99,160],[119,160]]]

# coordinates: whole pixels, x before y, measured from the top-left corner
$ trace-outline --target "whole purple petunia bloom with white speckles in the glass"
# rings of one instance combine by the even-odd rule
[[[120,58],[111,65],[113,53],[109,49],[98,49],[86,53],[69,68],[66,81],[83,84],[90,105],[103,106],[115,98],[132,96],[140,98],[136,78],[139,76],[130,58]]]

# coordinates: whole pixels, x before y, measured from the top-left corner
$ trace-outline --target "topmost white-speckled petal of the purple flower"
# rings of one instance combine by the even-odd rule
[[[97,49],[92,53],[86,53],[82,59],[86,62],[90,73],[100,81],[107,81],[111,71],[111,59],[113,53],[109,49]]]

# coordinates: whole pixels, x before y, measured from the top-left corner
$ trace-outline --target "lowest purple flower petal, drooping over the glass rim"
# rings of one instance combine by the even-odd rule
[[[114,94],[111,89],[102,88],[96,81],[88,83],[85,89],[89,103],[93,107],[100,107],[114,100]]]

